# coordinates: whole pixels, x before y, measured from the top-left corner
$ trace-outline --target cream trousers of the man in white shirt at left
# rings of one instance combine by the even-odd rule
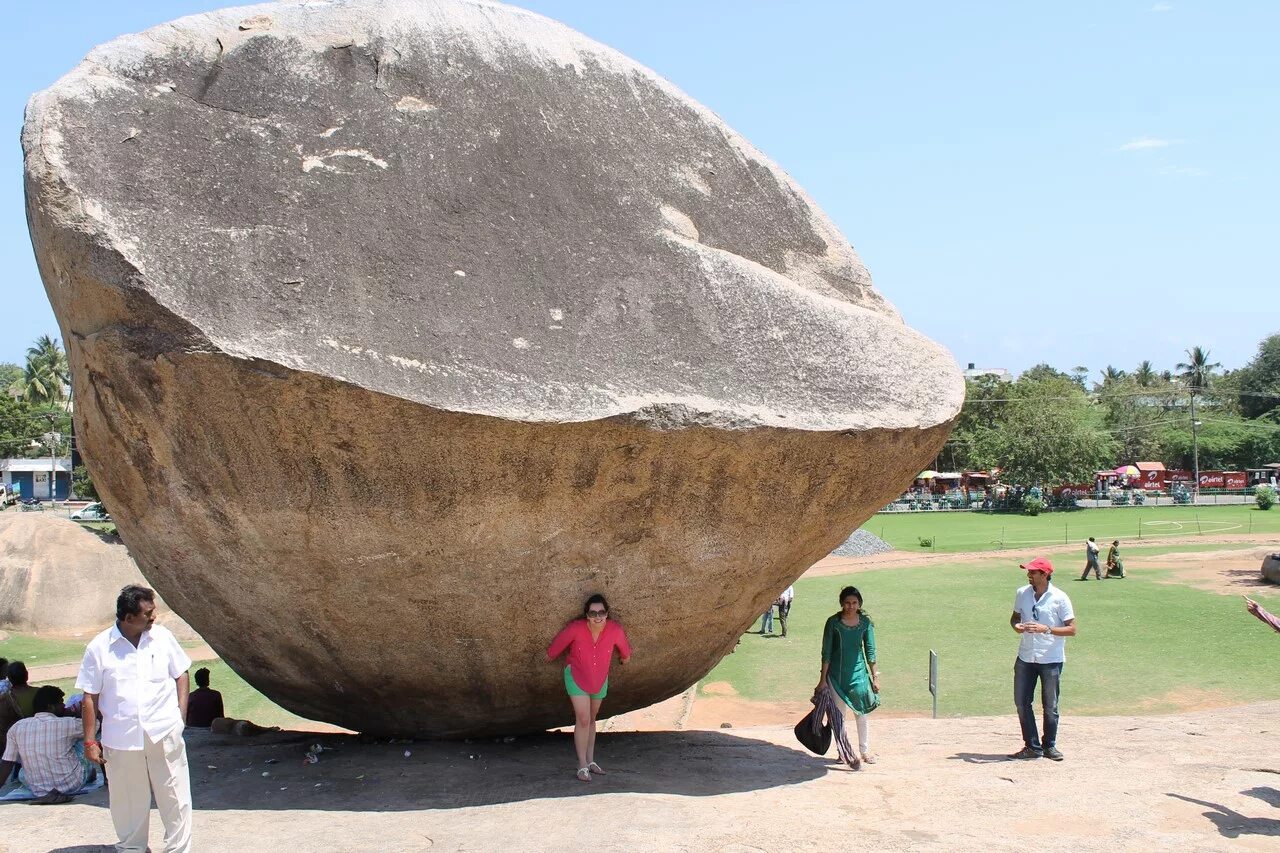
[[[142,749],[106,748],[106,788],[111,799],[115,845],[120,853],[143,853],[155,794],[164,824],[165,853],[191,850],[191,772],[182,726],[160,740],[142,735]]]

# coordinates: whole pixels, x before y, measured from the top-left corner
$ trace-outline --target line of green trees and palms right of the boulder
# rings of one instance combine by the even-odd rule
[[[1280,461],[1280,334],[1238,370],[1192,347],[1172,370],[1143,361],[1132,371],[1038,364],[1016,382],[966,383],[960,419],[938,459],[952,470],[1001,469],[1006,483],[1092,483],[1100,470],[1137,461],[1244,470]],[[1194,406],[1196,425],[1192,425]]]

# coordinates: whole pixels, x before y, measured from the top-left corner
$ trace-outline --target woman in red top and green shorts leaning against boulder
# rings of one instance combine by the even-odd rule
[[[595,594],[582,606],[582,619],[564,626],[547,648],[547,661],[554,661],[568,649],[564,667],[564,690],[573,704],[573,748],[577,751],[577,777],[591,781],[591,774],[604,774],[595,763],[595,716],[600,701],[609,692],[609,663],[613,649],[618,663],[631,660],[631,644],[622,626],[609,620],[609,602]]]

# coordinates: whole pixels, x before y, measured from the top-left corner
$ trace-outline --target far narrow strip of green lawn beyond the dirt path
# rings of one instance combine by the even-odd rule
[[[1037,516],[984,512],[886,512],[863,525],[900,551],[992,551],[1120,539],[1132,546],[1162,537],[1217,533],[1280,534],[1280,511],[1253,506],[1116,507]],[[932,539],[932,547],[920,544]],[[1083,547],[1083,546],[1082,546]]]

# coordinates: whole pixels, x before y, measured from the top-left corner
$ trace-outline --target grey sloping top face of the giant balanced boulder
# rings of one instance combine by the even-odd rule
[[[502,4],[183,18],[36,95],[23,145],[188,350],[522,421],[928,428],[963,398],[764,155]]]

